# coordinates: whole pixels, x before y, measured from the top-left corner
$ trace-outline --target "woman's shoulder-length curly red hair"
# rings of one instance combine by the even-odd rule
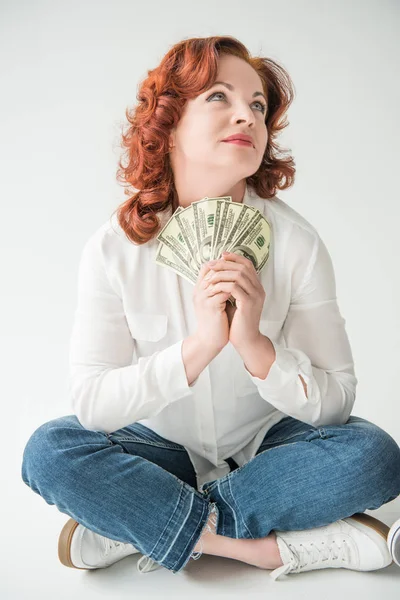
[[[246,179],[247,184],[261,198],[270,199],[277,188],[284,190],[294,183],[293,157],[279,158],[280,148],[275,141],[288,124],[284,117],[294,97],[288,73],[270,58],[251,57],[246,47],[231,36],[183,40],[171,48],[157,68],[148,71],[137,94],[139,104],[133,111],[125,111],[130,123],[122,133],[127,165],[118,162],[117,181],[136,191],[125,189],[129,197],[114,213],[135,244],[145,244],[159,233],[161,223],[156,213],[171,208],[174,212],[179,205],[169,160],[170,132],[187,100],[209,89],[216,80],[221,54],[238,56],[251,65],[268,99],[268,142],[260,167]]]

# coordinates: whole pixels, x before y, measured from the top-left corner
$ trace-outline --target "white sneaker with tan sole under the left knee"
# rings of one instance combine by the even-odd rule
[[[66,522],[58,538],[58,558],[63,565],[74,569],[104,569],[138,552],[139,550],[132,544],[99,535],[74,519]],[[140,573],[154,571],[159,567],[161,565],[148,556],[142,556],[137,563],[137,570]]]

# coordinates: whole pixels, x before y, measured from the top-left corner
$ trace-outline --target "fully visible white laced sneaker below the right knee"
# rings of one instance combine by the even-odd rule
[[[324,527],[301,531],[275,531],[283,565],[272,571],[281,575],[315,569],[343,568],[375,571],[390,565],[389,527],[365,513],[355,513]]]

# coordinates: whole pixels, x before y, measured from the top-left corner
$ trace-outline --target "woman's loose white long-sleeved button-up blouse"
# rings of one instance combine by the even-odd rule
[[[276,359],[253,377],[230,342],[188,385],[182,342],[196,330],[194,286],[155,263],[158,240],[133,244],[115,215],[85,243],[70,340],[70,401],[87,429],[141,422],[185,447],[197,489],[256,455],[286,416],[314,427],[346,423],[357,378],[329,252],[315,228],[277,196],[245,204],[271,226],[260,331]],[[165,219],[165,215],[164,215]],[[304,392],[301,375],[307,384]]]

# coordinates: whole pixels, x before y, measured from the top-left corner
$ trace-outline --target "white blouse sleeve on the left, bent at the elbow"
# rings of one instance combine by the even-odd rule
[[[69,349],[69,398],[81,424],[111,433],[193,395],[180,340],[132,364],[134,332],[107,275],[101,236],[85,244]]]

